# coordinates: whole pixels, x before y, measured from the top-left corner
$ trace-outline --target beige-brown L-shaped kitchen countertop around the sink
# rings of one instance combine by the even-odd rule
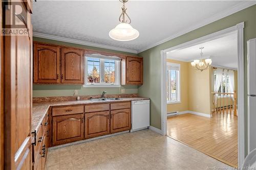
[[[112,103],[112,102],[122,102],[122,101],[139,101],[148,100],[149,98],[120,98],[121,100],[116,101],[97,101],[93,102],[90,100],[80,100],[80,101],[62,101],[62,102],[44,102],[44,103],[33,103],[33,114],[32,114],[32,131],[38,131],[44,116],[47,111],[52,106],[66,106],[66,105],[82,105],[82,104],[92,104],[92,103]]]

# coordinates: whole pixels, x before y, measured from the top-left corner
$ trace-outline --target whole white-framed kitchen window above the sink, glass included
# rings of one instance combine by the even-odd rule
[[[86,55],[83,87],[120,87],[120,58]]]

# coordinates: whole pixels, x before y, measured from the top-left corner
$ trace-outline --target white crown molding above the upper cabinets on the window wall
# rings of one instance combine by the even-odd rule
[[[72,38],[59,37],[59,36],[55,36],[55,35],[42,34],[42,33],[37,33],[37,32],[33,32],[33,37],[46,38],[46,39],[51,39],[51,40],[64,41],[64,42],[70,42],[70,43],[75,43],[75,44],[105,48],[105,49],[109,49],[109,50],[116,50],[116,51],[121,51],[121,52],[138,54],[138,51],[131,50],[128,48],[104,45],[104,44],[88,42],[88,41],[81,41],[81,40],[76,40],[76,39],[72,39]]]

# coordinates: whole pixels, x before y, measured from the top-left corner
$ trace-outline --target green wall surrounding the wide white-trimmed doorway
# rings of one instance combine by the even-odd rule
[[[224,17],[208,25],[186,33],[182,36],[152,47],[142,53],[144,80],[143,85],[138,88],[141,96],[151,98],[151,126],[161,129],[161,77],[160,77],[160,51],[179,45],[181,43],[197,39],[199,37],[232,27],[245,21],[244,28],[244,66],[245,66],[245,106],[247,106],[247,40],[256,38],[256,5]],[[247,125],[247,107],[245,109],[245,125]],[[247,126],[245,126],[247,127]],[[245,131],[247,139],[247,129]],[[245,141],[247,144],[247,141]],[[247,148],[247,147],[246,147]],[[247,149],[246,149],[247,151]]]

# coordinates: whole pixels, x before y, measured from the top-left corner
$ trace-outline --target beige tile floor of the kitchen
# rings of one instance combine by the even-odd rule
[[[151,130],[49,150],[46,169],[210,169],[228,167]]]

